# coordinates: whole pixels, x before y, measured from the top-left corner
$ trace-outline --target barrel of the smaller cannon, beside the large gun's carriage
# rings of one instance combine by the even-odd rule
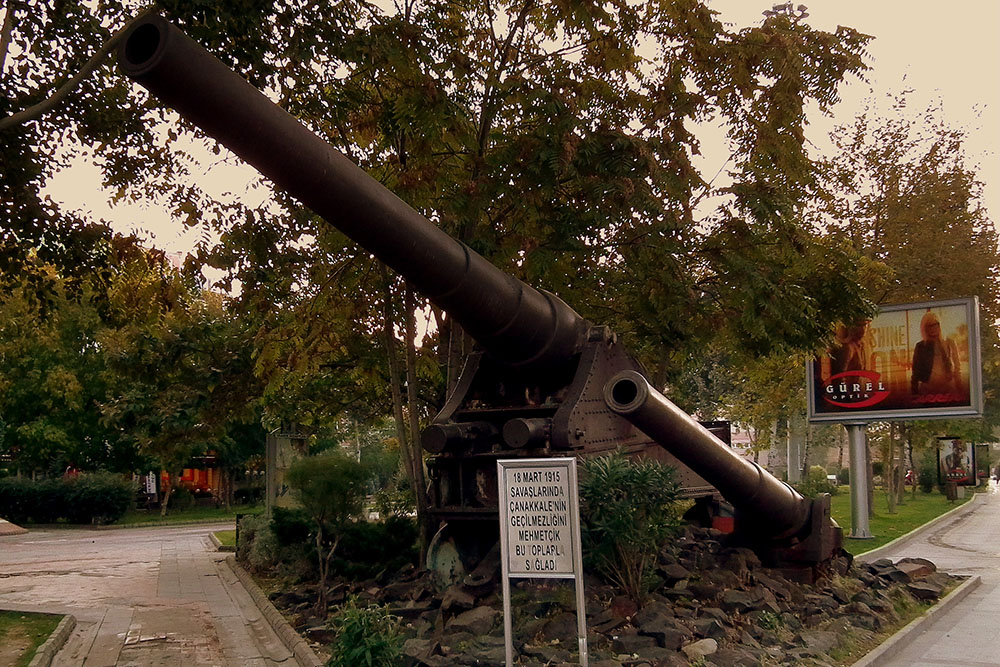
[[[809,500],[727,447],[639,373],[614,375],[604,385],[604,400],[715,486],[758,536],[780,540],[808,529]]]

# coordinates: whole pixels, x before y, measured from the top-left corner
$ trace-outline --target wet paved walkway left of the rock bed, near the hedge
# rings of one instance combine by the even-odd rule
[[[59,667],[296,665],[212,547],[231,527],[0,537],[0,609],[73,614]]]

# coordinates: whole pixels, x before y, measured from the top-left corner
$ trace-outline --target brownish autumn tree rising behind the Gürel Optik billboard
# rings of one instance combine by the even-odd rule
[[[1000,359],[997,232],[982,201],[982,183],[966,153],[967,133],[940,120],[940,108],[913,113],[904,91],[890,98],[888,114],[870,101],[853,123],[832,135],[836,151],[824,165],[827,196],[815,216],[831,235],[847,240],[870,261],[891,271],[879,303],[979,297],[986,416],[889,426],[887,460],[896,460],[902,436],[914,446],[935,434],[992,440]],[[899,459],[903,457],[900,456]],[[887,469],[890,498],[901,471]]]

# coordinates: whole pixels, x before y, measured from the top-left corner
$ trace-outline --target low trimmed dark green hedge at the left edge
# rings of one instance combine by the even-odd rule
[[[112,473],[32,481],[0,479],[0,516],[15,523],[113,523],[135,498],[135,485]]]

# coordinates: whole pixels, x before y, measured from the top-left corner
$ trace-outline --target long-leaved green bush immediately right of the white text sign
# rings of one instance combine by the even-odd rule
[[[673,468],[616,453],[583,461],[580,516],[584,558],[642,604],[656,557],[680,525]]]

